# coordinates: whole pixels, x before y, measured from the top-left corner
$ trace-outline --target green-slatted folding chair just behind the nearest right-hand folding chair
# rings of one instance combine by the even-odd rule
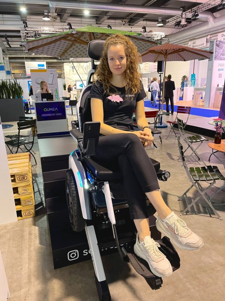
[[[195,135],[195,136],[188,137],[186,135],[186,133],[184,132],[185,124],[184,124],[183,120],[179,119],[178,117],[177,117],[177,125],[178,125],[178,129],[180,131],[181,137],[187,143],[187,148],[184,150],[184,153],[188,150],[188,148],[190,148],[192,150],[192,153],[186,158],[186,161],[189,160],[193,154],[195,154],[196,157],[198,158],[198,160],[201,160],[204,163],[204,165],[206,165],[205,162],[200,158],[199,154],[197,153],[197,149],[203,143],[203,141],[208,141],[208,139],[206,139],[202,135]],[[196,148],[193,148],[193,146],[192,146],[193,143],[199,143],[199,144]],[[179,160],[180,158],[181,157],[179,157],[177,160]]]

